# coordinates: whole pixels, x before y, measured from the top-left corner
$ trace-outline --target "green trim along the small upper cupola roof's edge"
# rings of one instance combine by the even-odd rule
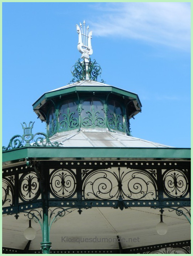
[[[53,97],[60,96],[60,95],[61,96],[68,95],[76,91],[77,92],[111,92],[112,91],[116,95],[132,97],[133,99],[136,99],[140,104],[140,106],[142,107],[141,101],[139,100],[138,95],[133,92],[122,90],[117,87],[109,86],[109,85],[106,85],[106,86],[88,85],[88,86],[71,86],[71,87],[62,88],[59,90],[46,92],[37,101],[35,101],[34,104],[32,104],[33,109],[35,109],[38,105],[42,104],[42,101],[45,101],[47,98],[51,99]]]

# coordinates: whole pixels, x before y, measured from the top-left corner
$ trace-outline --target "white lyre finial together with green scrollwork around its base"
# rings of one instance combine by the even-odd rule
[[[91,46],[92,31],[88,33],[89,26],[85,30],[85,21],[83,21],[83,27],[80,23],[80,27],[76,25],[78,33],[78,51],[81,52],[83,59],[76,61],[75,65],[72,67],[73,79],[70,82],[78,82],[82,80],[93,80],[97,81],[97,77],[101,75],[101,67],[98,65],[96,60],[93,62],[90,59],[90,55],[93,53]],[[104,82],[103,80],[101,82]]]

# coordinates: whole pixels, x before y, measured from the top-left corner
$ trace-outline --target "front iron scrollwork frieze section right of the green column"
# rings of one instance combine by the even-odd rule
[[[138,201],[141,206],[143,200],[144,205],[189,205],[189,162],[72,160],[45,163],[45,168],[52,202],[118,200]]]

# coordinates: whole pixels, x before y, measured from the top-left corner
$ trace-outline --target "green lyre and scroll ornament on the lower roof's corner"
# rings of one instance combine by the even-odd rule
[[[19,147],[29,147],[29,146],[52,146],[57,147],[61,145],[61,143],[55,141],[51,142],[49,137],[44,132],[37,132],[36,134],[32,134],[32,128],[35,122],[30,121],[29,125],[27,126],[25,122],[23,122],[22,128],[24,130],[24,134],[15,135],[11,138],[9,145],[7,147],[3,146],[2,151],[10,150],[10,149],[18,149]],[[38,136],[40,135],[40,136]],[[24,141],[26,144],[24,145]],[[30,144],[30,141],[34,141],[34,144]]]

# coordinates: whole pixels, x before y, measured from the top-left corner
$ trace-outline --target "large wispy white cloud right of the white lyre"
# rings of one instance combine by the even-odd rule
[[[101,3],[92,30],[98,36],[121,36],[190,49],[191,6],[187,2]]]

